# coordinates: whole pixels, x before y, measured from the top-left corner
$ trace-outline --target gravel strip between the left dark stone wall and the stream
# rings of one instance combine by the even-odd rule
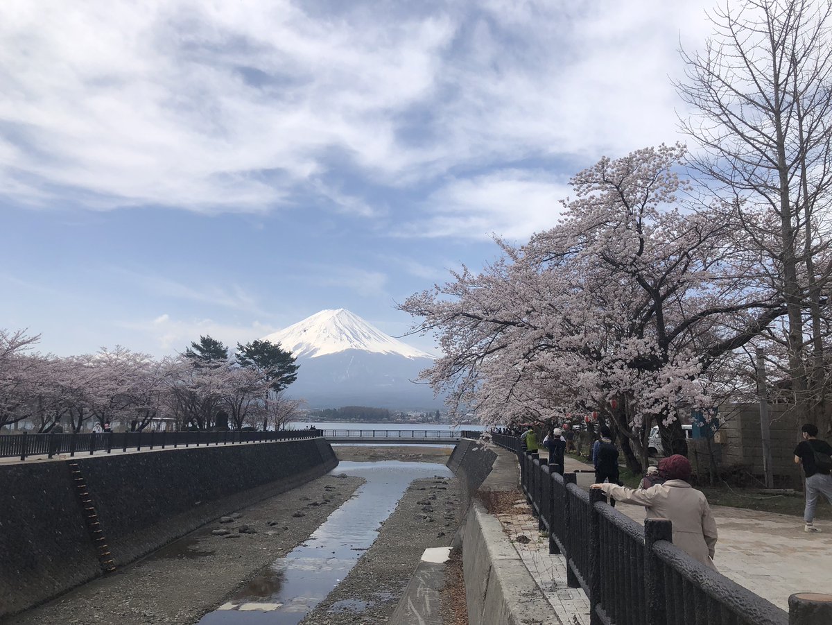
[[[8,618],[2,625],[196,623],[224,603],[235,588],[309,538],[364,482],[334,474],[243,508],[232,523],[210,523],[147,558]],[[244,524],[256,533],[240,533]],[[211,533],[219,528],[230,533],[227,537]]]

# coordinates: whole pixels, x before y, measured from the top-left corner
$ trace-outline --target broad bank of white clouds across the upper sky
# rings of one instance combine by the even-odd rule
[[[513,236],[541,221],[538,174],[490,181],[535,206],[510,221],[516,203],[473,210],[460,193],[481,178],[462,172],[674,141],[679,32],[706,32],[698,2],[385,6],[6,0],[3,193],[206,212],[323,195],[374,218],[388,209],[344,176],[416,194],[454,176],[429,234]]]

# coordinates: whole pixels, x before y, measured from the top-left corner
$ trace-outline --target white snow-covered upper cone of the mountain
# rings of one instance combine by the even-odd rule
[[[364,350],[379,354],[398,354],[407,358],[433,358],[432,355],[385,335],[349,310],[321,310],[319,313],[263,337],[280,343],[297,356],[317,357],[344,350]]]

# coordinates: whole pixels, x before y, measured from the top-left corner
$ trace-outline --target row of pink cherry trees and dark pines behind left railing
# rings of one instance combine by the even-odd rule
[[[298,365],[280,345],[255,340],[230,350],[201,336],[180,355],[156,360],[116,346],[59,357],[34,350],[38,335],[0,330],[0,427],[61,422],[78,432],[106,422],[145,429],[280,429],[303,408],[284,391]]]

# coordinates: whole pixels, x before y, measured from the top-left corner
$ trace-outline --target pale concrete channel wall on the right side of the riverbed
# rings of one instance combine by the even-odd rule
[[[463,526],[463,578],[470,625],[560,625],[498,518],[480,499],[517,491],[517,457],[493,444],[463,439],[448,467],[468,484]]]

